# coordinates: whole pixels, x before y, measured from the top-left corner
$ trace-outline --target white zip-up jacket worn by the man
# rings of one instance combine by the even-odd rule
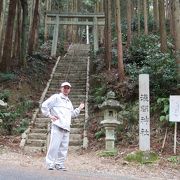
[[[63,93],[54,94],[42,103],[41,111],[46,117],[56,116],[58,120],[52,123],[70,131],[71,118],[77,117],[80,109],[73,108],[69,98]]]

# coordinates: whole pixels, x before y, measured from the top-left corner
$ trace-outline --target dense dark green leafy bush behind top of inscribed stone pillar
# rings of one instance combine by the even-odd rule
[[[126,73],[133,81],[138,81],[139,74],[149,74],[152,95],[168,95],[176,86],[175,58],[170,51],[161,53],[159,36],[134,38],[126,56]]]

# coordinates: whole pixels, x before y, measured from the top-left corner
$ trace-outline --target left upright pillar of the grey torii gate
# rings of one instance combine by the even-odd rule
[[[54,25],[54,33],[53,33],[53,42],[51,49],[51,56],[56,56],[57,51],[57,43],[58,43],[58,34],[59,34],[59,16],[56,16],[56,24]]]

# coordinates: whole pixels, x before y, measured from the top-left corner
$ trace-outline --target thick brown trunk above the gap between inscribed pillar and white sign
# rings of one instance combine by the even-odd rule
[[[161,52],[167,51],[167,34],[165,25],[165,10],[164,0],[159,0],[159,28],[160,28],[160,41],[161,41]]]

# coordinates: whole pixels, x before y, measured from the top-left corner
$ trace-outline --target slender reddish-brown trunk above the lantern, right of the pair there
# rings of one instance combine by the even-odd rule
[[[124,80],[124,64],[123,64],[123,49],[122,49],[122,34],[121,34],[121,13],[120,0],[116,0],[116,31],[117,31],[117,51],[118,51],[118,75],[120,81]]]

